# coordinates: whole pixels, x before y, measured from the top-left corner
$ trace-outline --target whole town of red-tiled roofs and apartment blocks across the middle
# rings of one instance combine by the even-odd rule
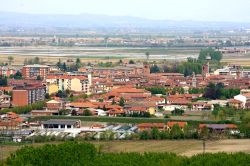
[[[11,135],[16,142],[39,135],[77,137],[89,133],[101,139],[110,131],[114,139],[125,139],[152,129],[171,134],[177,126],[184,131],[199,117],[196,127],[189,128],[192,133],[199,134],[206,127],[219,136],[228,132],[240,135],[237,124],[213,123],[211,116],[217,111],[214,118],[227,121],[229,109],[250,109],[250,69],[227,65],[211,71],[209,60],[202,64],[201,74],[188,76],[152,72],[154,64],[148,59],[123,60],[114,67],[79,66],[77,59],[77,68],[70,72],[63,70],[61,63],[1,66],[0,133]],[[83,116],[166,121],[88,125],[81,121]],[[195,138],[194,134],[190,137]]]

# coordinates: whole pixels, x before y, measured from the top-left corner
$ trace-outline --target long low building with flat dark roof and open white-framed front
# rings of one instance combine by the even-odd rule
[[[73,129],[80,127],[81,127],[80,120],[50,119],[41,122],[42,129]]]

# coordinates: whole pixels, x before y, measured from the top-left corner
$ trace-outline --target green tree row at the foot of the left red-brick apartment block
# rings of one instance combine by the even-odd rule
[[[45,101],[39,101],[33,104],[29,104],[27,106],[22,107],[14,107],[14,108],[5,108],[0,111],[0,113],[14,112],[17,114],[26,114],[32,110],[42,110],[45,107]]]

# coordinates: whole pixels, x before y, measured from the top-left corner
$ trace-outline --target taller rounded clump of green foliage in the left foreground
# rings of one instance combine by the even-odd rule
[[[7,165],[88,165],[96,155],[91,144],[66,142],[39,148],[24,147],[7,159]]]

